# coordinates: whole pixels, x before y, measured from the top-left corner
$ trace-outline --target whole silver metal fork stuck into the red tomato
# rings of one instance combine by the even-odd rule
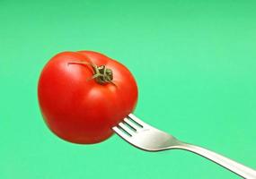
[[[128,141],[138,149],[146,151],[162,151],[166,149],[185,149],[199,156],[207,158],[220,166],[224,166],[236,175],[247,179],[256,179],[256,171],[248,166],[243,166],[230,158],[225,158],[208,149],[177,140],[172,135],[160,131],[144,123],[137,116],[129,114],[113,131],[122,139]]]

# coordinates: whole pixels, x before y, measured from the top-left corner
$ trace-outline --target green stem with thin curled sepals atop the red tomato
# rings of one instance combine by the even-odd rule
[[[90,65],[93,68],[93,76],[89,80],[95,80],[99,84],[106,84],[106,83],[115,83],[112,81],[113,80],[113,72],[110,68],[107,68],[106,65],[101,65],[97,66],[96,64],[93,63],[88,63],[88,62],[70,62],[68,64],[86,64]]]

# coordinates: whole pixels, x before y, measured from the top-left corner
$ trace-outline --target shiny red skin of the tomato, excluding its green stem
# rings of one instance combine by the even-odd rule
[[[106,65],[113,82],[88,80],[93,69],[87,62]],[[82,144],[97,143],[112,135],[111,128],[137,104],[137,83],[119,62],[93,51],[62,52],[45,65],[38,84],[40,110],[49,129],[58,137]]]

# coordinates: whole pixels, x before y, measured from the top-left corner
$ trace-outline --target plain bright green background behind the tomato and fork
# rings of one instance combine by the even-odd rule
[[[66,50],[119,60],[135,114],[256,168],[255,1],[0,0],[0,178],[239,178],[190,152],[58,139],[37,101],[40,70]]]

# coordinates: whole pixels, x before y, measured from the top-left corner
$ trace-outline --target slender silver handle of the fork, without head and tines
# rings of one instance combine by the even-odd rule
[[[243,178],[256,179],[256,171],[253,170],[252,168],[248,166],[243,166],[242,164],[235,162],[230,158],[225,158],[224,156],[216,154],[215,152],[210,151],[208,149],[204,149],[199,146],[195,146],[189,143],[182,143],[182,142],[178,145],[178,149],[189,150],[204,158],[212,160],[216,164],[220,166],[224,166],[226,169],[234,172],[234,174],[236,175],[242,176]]]

